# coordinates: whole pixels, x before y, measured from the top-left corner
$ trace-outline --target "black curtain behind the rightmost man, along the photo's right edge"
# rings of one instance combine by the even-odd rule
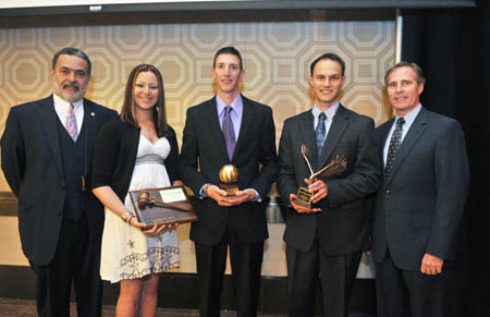
[[[470,190],[461,243],[464,316],[490,316],[490,1],[404,11],[402,59],[425,71],[422,105],[465,130]]]

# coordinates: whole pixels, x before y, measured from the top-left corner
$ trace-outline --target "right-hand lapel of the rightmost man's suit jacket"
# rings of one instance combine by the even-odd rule
[[[403,160],[406,158],[406,156],[409,154],[414,145],[417,143],[417,141],[420,138],[420,136],[426,131],[426,124],[427,124],[427,111],[425,109],[420,109],[420,112],[418,113],[417,118],[415,119],[414,123],[412,123],[411,129],[408,130],[407,134],[405,135],[402,145],[400,146],[395,161],[393,163],[393,169],[391,170],[390,178],[387,181],[387,185],[391,183],[396,172],[400,170],[400,167],[403,163]]]

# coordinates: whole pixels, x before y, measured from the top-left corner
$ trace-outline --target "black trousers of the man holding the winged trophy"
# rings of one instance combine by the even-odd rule
[[[315,290],[320,273],[323,316],[346,317],[360,256],[360,251],[345,255],[326,255],[318,244],[318,237],[306,252],[286,245],[289,315],[315,315]]]

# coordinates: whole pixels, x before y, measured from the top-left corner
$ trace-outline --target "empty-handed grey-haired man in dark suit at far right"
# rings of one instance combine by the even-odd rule
[[[400,62],[384,80],[395,117],[376,130],[384,162],[372,229],[378,316],[463,316],[453,305],[461,302],[455,242],[469,181],[464,133],[420,105],[417,64]]]

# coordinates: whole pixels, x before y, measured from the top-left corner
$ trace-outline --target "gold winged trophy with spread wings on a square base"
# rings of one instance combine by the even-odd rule
[[[328,176],[332,176],[332,175],[340,175],[347,168],[347,159],[344,156],[338,155],[329,164],[323,167],[321,170],[314,172],[307,154],[308,154],[308,148],[306,147],[305,144],[303,144],[302,145],[302,155],[306,161],[306,164],[308,166],[309,172],[311,173],[309,176],[309,180],[311,182],[315,182],[317,179],[320,179],[320,178],[323,179],[323,178],[328,178]],[[294,198],[294,203],[311,209],[313,208],[313,204],[311,204],[313,195],[314,195],[314,193],[311,193],[308,188],[299,187],[297,190],[296,198]]]

